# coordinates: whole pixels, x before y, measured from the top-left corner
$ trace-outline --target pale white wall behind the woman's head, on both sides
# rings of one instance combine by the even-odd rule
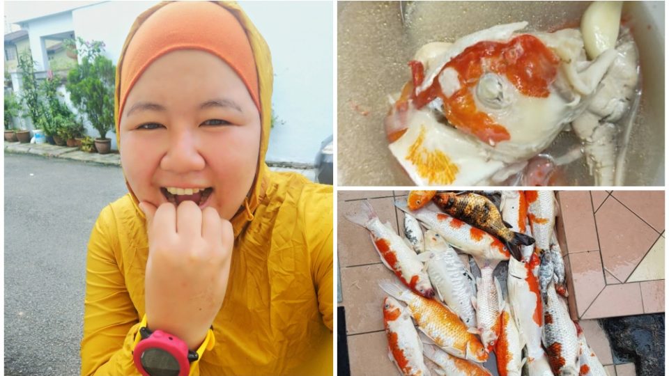
[[[107,56],[116,64],[134,19],[154,3],[109,1],[73,10],[75,33],[84,40],[103,40]],[[332,3],[240,4],[272,52],[275,72],[272,103],[279,123],[270,136],[267,160],[312,164],[321,141],[333,133]]]

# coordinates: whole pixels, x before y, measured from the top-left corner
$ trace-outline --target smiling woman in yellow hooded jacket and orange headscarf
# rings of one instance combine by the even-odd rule
[[[190,375],[332,374],[332,187],[269,171],[271,97],[236,3],[137,18],[116,70],[130,193],[91,233],[83,375],[138,375],[141,327],[197,352]]]

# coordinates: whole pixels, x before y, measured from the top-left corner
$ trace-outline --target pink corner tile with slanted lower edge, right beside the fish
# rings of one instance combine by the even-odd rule
[[[571,291],[574,291],[576,311],[578,317],[582,317],[606,285],[599,252],[571,253],[569,254],[569,267],[574,283]]]

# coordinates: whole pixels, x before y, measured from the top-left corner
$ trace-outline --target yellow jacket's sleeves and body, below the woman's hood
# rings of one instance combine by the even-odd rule
[[[263,173],[266,194],[236,234],[215,347],[191,375],[332,374],[332,187]],[[82,375],[139,375],[147,257],[146,222],[128,194],[91,233]]]

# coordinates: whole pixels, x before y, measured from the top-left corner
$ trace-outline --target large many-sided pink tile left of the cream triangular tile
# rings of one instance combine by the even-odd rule
[[[606,200],[595,214],[603,265],[626,281],[658,238],[658,233],[616,200]]]

